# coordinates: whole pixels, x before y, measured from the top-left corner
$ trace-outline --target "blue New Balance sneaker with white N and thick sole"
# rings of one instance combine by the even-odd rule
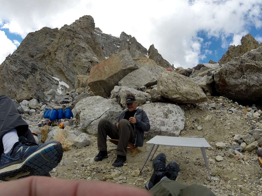
[[[62,156],[63,148],[58,141],[38,146],[25,137],[19,137],[12,150],[1,155],[0,180],[46,174],[60,163]]]

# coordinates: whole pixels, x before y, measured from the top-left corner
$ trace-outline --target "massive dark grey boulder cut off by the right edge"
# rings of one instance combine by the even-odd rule
[[[229,99],[262,98],[262,47],[236,57],[214,73],[217,92]]]

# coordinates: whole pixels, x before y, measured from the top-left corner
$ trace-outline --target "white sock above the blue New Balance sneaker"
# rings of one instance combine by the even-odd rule
[[[14,146],[15,142],[18,142],[18,135],[16,129],[11,129],[6,134],[4,134],[3,138],[3,146],[4,146],[4,153],[8,153],[12,147]]]

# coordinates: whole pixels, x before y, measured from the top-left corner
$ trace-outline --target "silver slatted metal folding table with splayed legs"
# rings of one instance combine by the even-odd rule
[[[154,154],[157,151],[157,148],[159,145],[163,146],[180,146],[180,147],[198,147],[201,149],[202,155],[204,157],[206,169],[208,170],[208,175],[210,178],[210,182],[212,182],[211,176],[210,176],[210,171],[209,171],[209,166],[208,166],[208,159],[206,157],[206,151],[205,148],[211,148],[209,143],[205,140],[205,138],[195,138],[195,137],[170,137],[170,136],[160,136],[157,135],[153,137],[151,140],[149,140],[146,143],[151,143],[151,146],[149,148],[148,154],[146,155],[145,163],[140,169],[140,172],[143,170],[154,146],[156,145],[155,152],[153,153],[152,157],[150,160],[152,160]]]

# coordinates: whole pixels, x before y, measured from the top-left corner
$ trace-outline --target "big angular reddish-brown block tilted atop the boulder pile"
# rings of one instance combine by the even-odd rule
[[[128,73],[138,69],[128,50],[92,67],[88,85],[95,95],[110,97],[111,90]]]

